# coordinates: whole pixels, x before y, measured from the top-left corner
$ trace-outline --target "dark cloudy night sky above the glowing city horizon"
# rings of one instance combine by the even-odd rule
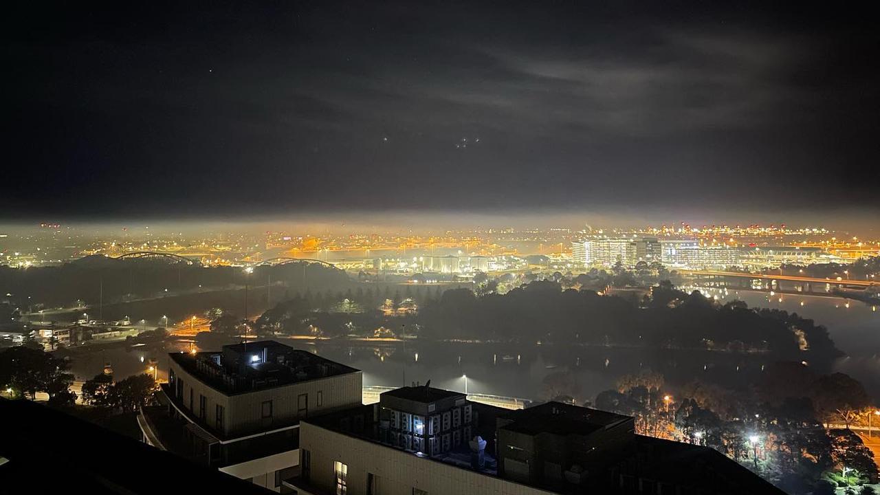
[[[880,204],[854,4],[18,4],[8,220]]]

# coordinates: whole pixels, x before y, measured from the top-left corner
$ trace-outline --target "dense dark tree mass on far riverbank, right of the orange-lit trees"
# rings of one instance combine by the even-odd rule
[[[632,302],[592,291],[561,291],[534,282],[504,295],[444,292],[420,314],[423,335],[437,339],[647,346],[770,352],[774,358],[829,364],[840,355],[828,332],[784,311],[720,305],[669,284],[653,290],[639,310]]]

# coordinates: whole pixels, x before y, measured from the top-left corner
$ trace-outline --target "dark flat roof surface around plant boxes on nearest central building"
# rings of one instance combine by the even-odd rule
[[[455,392],[442,394],[443,390],[426,387],[405,387],[385,392],[397,399],[430,402],[444,400],[460,395]],[[434,392],[436,390],[436,392]],[[435,395],[431,395],[431,394]],[[428,394],[428,398],[425,395]],[[473,436],[480,435],[490,444],[495,444],[495,429],[522,432],[527,435],[540,433],[556,434],[563,437],[569,435],[590,435],[605,429],[620,427],[626,429],[632,417],[622,416],[601,410],[591,410],[564,403],[544,403],[524,410],[501,410],[480,403],[472,403],[474,410],[480,415],[480,424],[475,427]],[[359,440],[399,450],[385,443],[379,434],[379,404],[359,406],[349,410],[341,410],[321,417],[310,417],[305,420],[327,430],[341,433]],[[501,447],[498,447],[501,448]],[[617,476],[623,475],[637,479],[639,477],[664,479],[687,487],[694,492],[717,492],[730,494],[781,494],[772,484],[752,474],[737,462],[731,461],[723,454],[709,447],[700,447],[679,443],[671,440],[658,440],[641,435],[631,437],[614,453],[605,454],[605,467],[598,469],[594,476],[584,484],[551,484],[545,482],[519,481],[501,474],[495,457],[495,447],[486,449],[485,467],[475,469],[471,465],[472,454],[469,447],[463,446],[450,452],[429,457],[422,453],[413,453],[425,462],[442,462],[459,469],[479,472],[488,477],[502,477],[513,483],[525,484],[543,491],[573,494],[583,493],[588,487],[604,492],[620,488]],[[691,468],[685,468],[689,466]],[[697,472],[694,472],[696,470]],[[610,476],[615,478],[610,478]],[[656,483],[652,482],[652,483]]]

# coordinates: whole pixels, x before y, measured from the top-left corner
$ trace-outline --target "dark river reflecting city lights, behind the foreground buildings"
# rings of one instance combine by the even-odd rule
[[[750,307],[785,309],[825,325],[834,343],[847,354],[836,362],[835,370],[862,381],[870,395],[880,397],[880,312],[856,301],[847,308],[843,299],[814,296],[785,296],[781,302],[778,297],[770,299],[759,292],[731,292],[728,298],[733,297]],[[701,377],[736,388],[752,383],[763,366],[770,364],[760,354],[603,346],[284,342],[363,370],[365,386],[402,386],[431,380],[432,386],[464,391],[466,375],[468,392],[532,400],[546,398],[548,375],[558,376],[563,371],[572,379],[566,389],[583,402],[612,388],[620,375],[641,369],[663,373],[672,384]],[[145,371],[150,358],[158,358],[161,379],[167,369],[167,352],[186,351],[188,345],[175,342],[135,349],[124,344],[78,348],[71,356],[73,371],[82,380],[99,373],[108,361],[117,376],[126,376]]]

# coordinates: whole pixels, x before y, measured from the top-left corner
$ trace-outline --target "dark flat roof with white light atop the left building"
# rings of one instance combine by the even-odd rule
[[[224,345],[223,351],[169,356],[188,373],[226,395],[358,373],[353,367],[271,340]]]

